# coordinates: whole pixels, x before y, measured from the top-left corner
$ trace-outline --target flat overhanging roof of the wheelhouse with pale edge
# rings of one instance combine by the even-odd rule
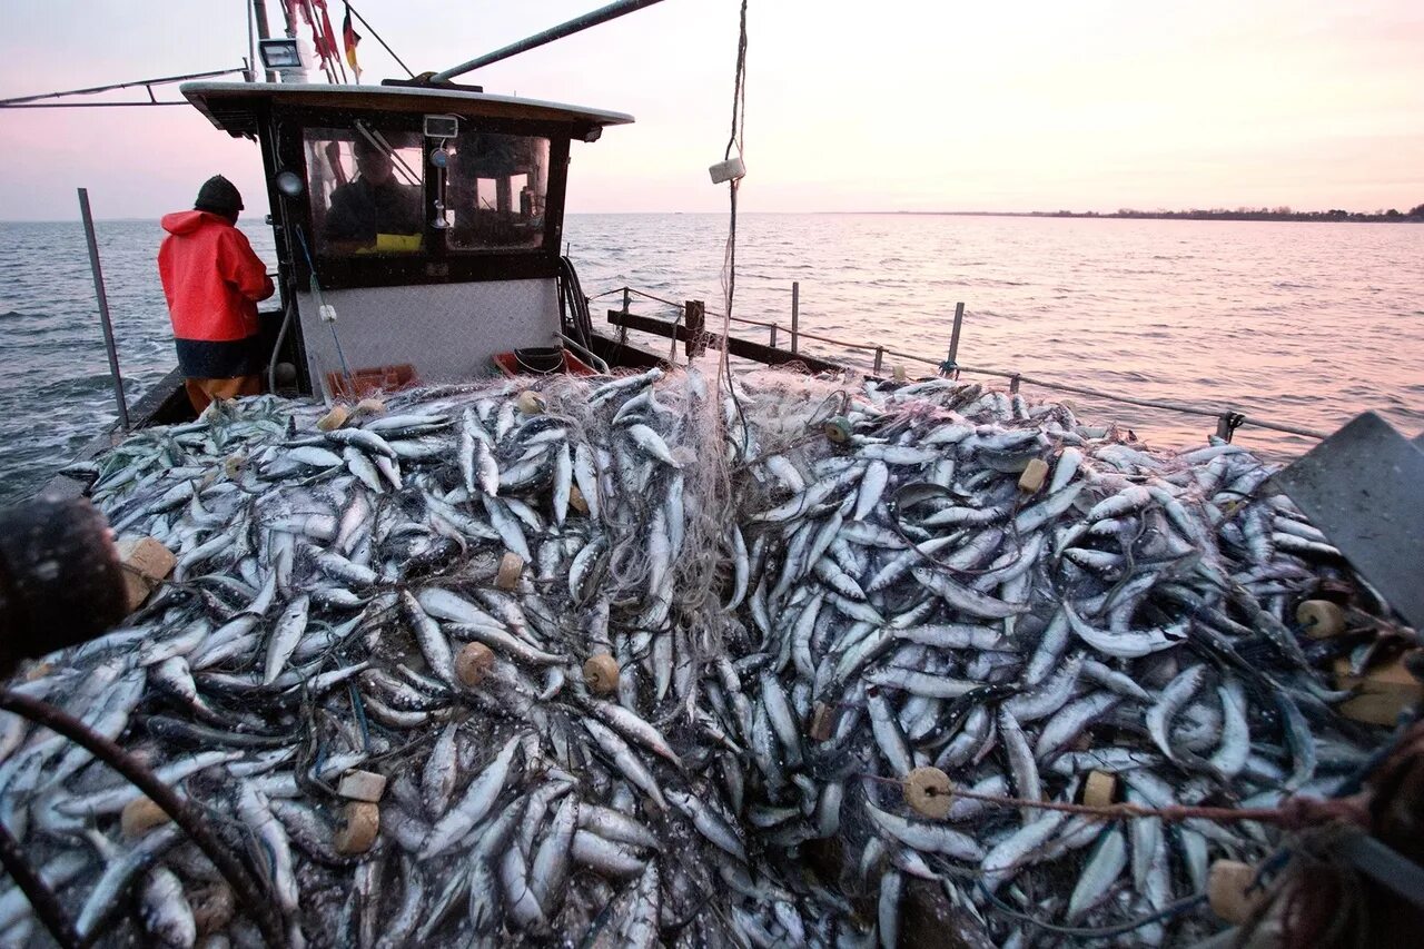
[[[303,83],[184,83],[184,97],[234,138],[255,135],[258,115],[271,105],[353,108],[384,113],[454,113],[484,118],[567,123],[574,135],[625,125],[632,115],[537,98],[412,85],[326,85]]]

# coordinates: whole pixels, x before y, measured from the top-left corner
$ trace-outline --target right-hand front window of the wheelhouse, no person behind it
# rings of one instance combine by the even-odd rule
[[[454,251],[544,247],[548,138],[467,130],[451,140],[446,241]]]

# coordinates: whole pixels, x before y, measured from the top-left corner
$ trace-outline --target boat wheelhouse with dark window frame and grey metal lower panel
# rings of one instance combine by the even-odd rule
[[[263,319],[278,390],[468,379],[524,349],[602,358],[560,255],[570,145],[631,115],[474,87],[182,93],[262,148],[283,299]]]

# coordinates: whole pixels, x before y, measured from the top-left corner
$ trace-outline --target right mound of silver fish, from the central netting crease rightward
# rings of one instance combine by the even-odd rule
[[[752,814],[780,846],[836,836],[884,945],[914,878],[995,945],[1112,926],[1180,942],[1193,926],[1173,916],[1196,902],[1178,901],[1205,892],[1210,861],[1274,841],[968,797],[927,819],[896,787],[916,768],[1021,801],[1072,802],[1101,771],[1138,805],[1273,807],[1364,762],[1377,737],[1316,668],[1331,647],[1307,655],[1292,628],[1343,561],[1249,452],[1149,452],[1067,405],[944,380],[829,405],[790,389],[772,379],[739,408],[779,426],[729,418],[762,487],[742,487],[738,517],[765,661]],[[832,437],[786,426],[786,405]],[[1031,463],[1041,484],[1020,483]]]

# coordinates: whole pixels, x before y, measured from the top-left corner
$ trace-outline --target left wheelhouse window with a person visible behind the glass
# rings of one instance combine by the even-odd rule
[[[422,140],[375,123],[306,130],[318,256],[416,254],[424,234]]]

